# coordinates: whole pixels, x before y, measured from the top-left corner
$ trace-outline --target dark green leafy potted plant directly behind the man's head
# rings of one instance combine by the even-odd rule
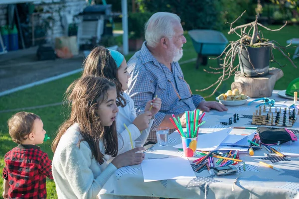
[[[129,29],[129,50],[137,51],[141,49],[145,41],[145,23],[152,15],[150,12],[131,12],[128,17]]]

